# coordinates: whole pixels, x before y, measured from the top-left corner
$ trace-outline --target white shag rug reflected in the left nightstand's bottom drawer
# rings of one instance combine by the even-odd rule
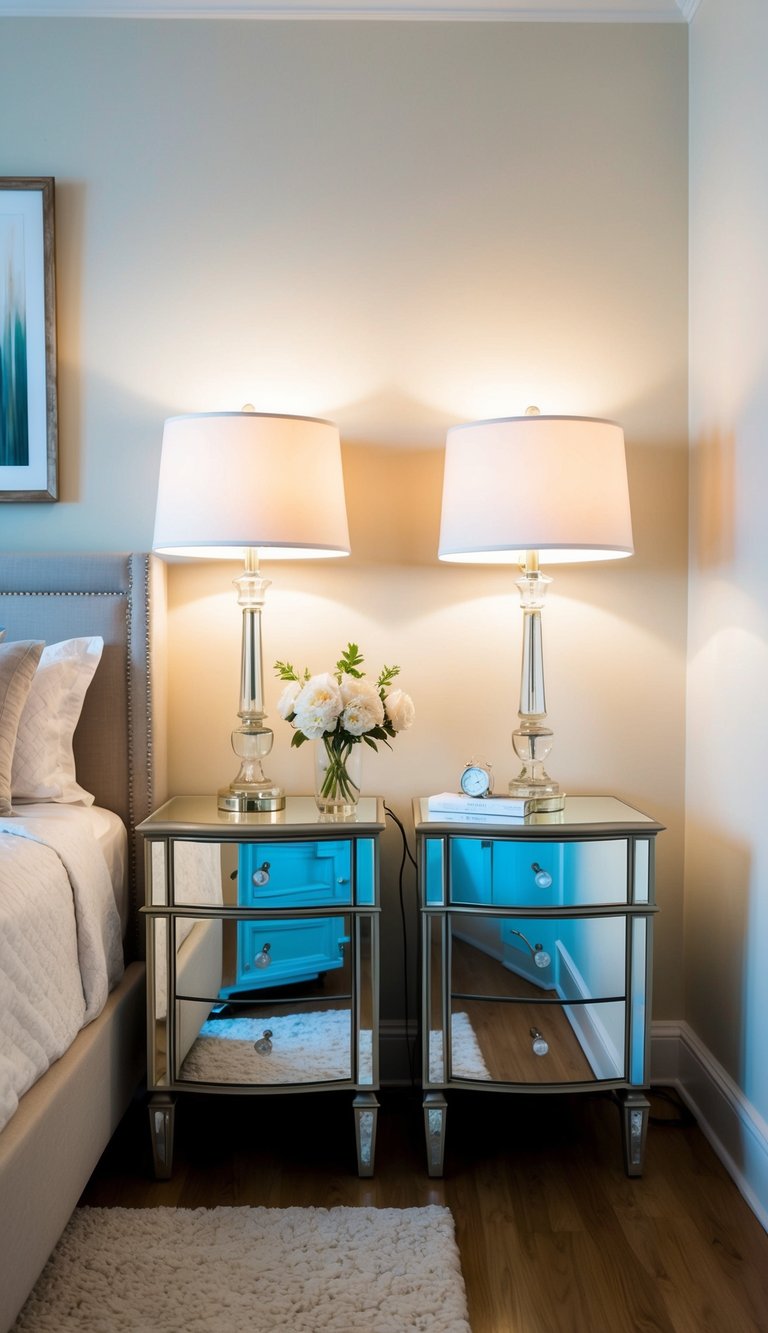
[[[272,1050],[253,1049],[271,1032]],[[303,1084],[352,1078],[352,1021],[348,1009],[283,1014],[279,1018],[209,1018],[189,1048],[181,1078],[203,1082]],[[360,1033],[359,1082],[371,1082],[371,1032]]]

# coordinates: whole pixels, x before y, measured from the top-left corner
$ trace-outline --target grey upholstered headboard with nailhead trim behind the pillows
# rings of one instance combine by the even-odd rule
[[[9,640],[104,639],[75,758],[79,782],[128,826],[136,908],[135,828],[167,794],[165,567],[147,555],[0,555],[0,625]]]

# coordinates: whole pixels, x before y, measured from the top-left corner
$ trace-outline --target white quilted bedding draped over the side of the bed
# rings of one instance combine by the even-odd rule
[[[0,1129],[123,976],[120,913],[88,812],[0,818]]]

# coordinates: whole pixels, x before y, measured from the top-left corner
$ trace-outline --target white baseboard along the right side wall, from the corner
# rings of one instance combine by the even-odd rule
[[[768,1124],[687,1022],[651,1025],[651,1080],[680,1093],[768,1230]]]

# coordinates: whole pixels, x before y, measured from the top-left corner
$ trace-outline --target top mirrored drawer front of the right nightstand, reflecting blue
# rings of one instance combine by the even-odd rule
[[[477,906],[601,906],[629,893],[627,838],[533,842],[452,837],[449,901]]]

